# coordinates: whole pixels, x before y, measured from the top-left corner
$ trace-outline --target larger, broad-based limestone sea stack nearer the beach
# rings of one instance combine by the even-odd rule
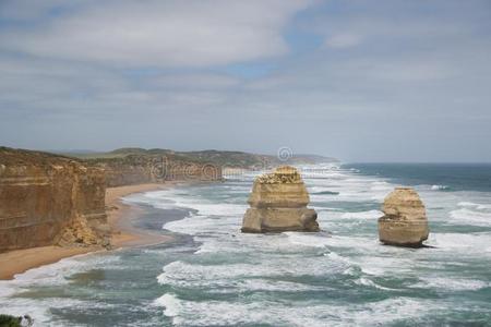
[[[243,217],[242,232],[319,231],[318,214],[307,208],[309,193],[290,166],[258,177]]]

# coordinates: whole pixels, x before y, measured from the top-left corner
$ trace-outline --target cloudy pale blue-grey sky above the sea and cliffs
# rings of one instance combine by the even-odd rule
[[[491,162],[489,0],[0,0],[0,145]]]

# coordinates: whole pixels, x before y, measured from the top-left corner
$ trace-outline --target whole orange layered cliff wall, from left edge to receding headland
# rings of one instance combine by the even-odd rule
[[[47,245],[109,249],[106,186],[219,180],[219,166],[173,156],[82,160],[0,147],[0,253]]]

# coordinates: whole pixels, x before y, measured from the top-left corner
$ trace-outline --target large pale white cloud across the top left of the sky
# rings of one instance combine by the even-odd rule
[[[288,46],[283,28],[309,3],[88,1],[72,10],[57,8],[60,14],[28,28],[1,33],[0,47],[43,58],[116,66],[225,65],[285,55]]]

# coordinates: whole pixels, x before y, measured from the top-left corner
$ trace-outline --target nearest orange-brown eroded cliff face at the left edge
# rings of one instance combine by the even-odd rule
[[[105,173],[70,158],[0,148],[0,252],[108,246]]]

